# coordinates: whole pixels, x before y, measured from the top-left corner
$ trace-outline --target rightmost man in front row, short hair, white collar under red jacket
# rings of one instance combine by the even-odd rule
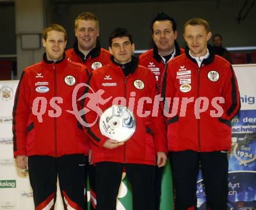
[[[207,209],[227,209],[230,120],[240,109],[240,95],[231,64],[215,55],[210,38],[207,21],[187,21],[185,54],[168,64],[162,78],[176,210],[196,209],[200,162]]]

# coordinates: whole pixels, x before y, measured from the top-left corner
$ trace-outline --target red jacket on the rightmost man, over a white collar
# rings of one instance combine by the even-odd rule
[[[169,151],[220,151],[230,150],[231,125],[230,120],[240,109],[240,95],[236,75],[231,64],[220,56],[214,55],[214,50],[208,45],[209,57],[202,61],[201,67],[189,55],[183,54],[168,63],[162,78],[161,93],[163,101],[171,98],[165,109],[171,113],[173,97],[179,98],[179,107],[175,116],[168,117],[168,150]],[[208,99],[208,109],[200,113],[200,119],[195,116],[198,97]],[[217,102],[215,97],[223,97],[225,103]],[[188,103],[186,114],[181,111],[182,98],[194,99]],[[207,103],[207,102],[205,102]],[[163,106],[163,104],[162,104]],[[202,101],[200,107],[202,108]],[[223,114],[219,113],[220,107]],[[211,110],[219,113],[212,117]],[[184,115],[184,117],[182,117]]]

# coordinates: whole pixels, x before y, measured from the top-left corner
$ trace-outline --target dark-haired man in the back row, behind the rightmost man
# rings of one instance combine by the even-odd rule
[[[170,60],[184,53],[177,38],[177,24],[175,19],[165,13],[158,13],[151,23],[154,48],[139,56],[139,64],[147,67],[155,74],[158,86],[161,82],[163,70]],[[159,209],[161,197],[163,167],[156,166],[155,175],[155,210]]]

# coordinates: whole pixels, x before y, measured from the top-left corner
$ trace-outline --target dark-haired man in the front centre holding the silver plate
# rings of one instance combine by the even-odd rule
[[[116,28],[109,37],[111,63],[93,71],[88,84],[89,93],[103,89],[105,104],[98,103],[98,108],[105,111],[111,106],[129,107],[136,119],[136,129],[126,142],[111,139],[103,135],[98,121],[86,128],[93,140],[93,162],[96,163],[97,210],[116,209],[116,198],[123,169],[131,183],[134,210],[154,210],[155,164],[162,167],[166,163],[166,133],[163,115],[152,115],[153,104],[141,103],[141,98],[154,101],[158,95],[154,74],[138,65],[133,56],[134,43],[131,34],[125,28]],[[134,106],[130,107],[129,97],[134,96]],[[118,100],[117,100],[118,99]],[[119,100],[120,99],[120,100]],[[85,104],[88,104],[86,99]],[[148,117],[138,113],[150,112]],[[153,117],[154,116],[154,117]],[[91,124],[97,118],[94,111],[84,116]],[[148,129],[154,132],[154,139],[148,138]],[[118,138],[118,137],[117,137]],[[157,155],[157,161],[155,157]]]

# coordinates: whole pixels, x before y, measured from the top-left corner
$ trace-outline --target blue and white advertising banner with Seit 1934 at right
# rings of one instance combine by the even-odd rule
[[[234,65],[240,90],[241,111],[232,120],[229,153],[228,208],[256,209],[256,65]],[[201,172],[197,182],[197,207],[206,209]]]

